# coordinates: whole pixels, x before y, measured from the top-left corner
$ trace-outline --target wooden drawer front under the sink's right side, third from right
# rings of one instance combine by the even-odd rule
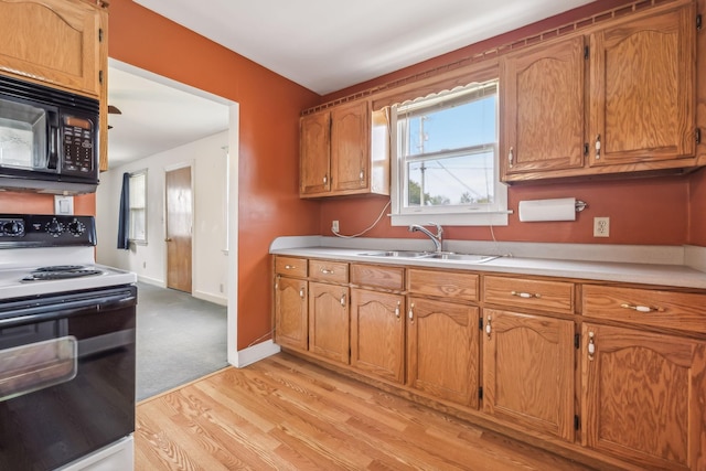
[[[478,275],[458,271],[407,269],[409,293],[478,300]]]

